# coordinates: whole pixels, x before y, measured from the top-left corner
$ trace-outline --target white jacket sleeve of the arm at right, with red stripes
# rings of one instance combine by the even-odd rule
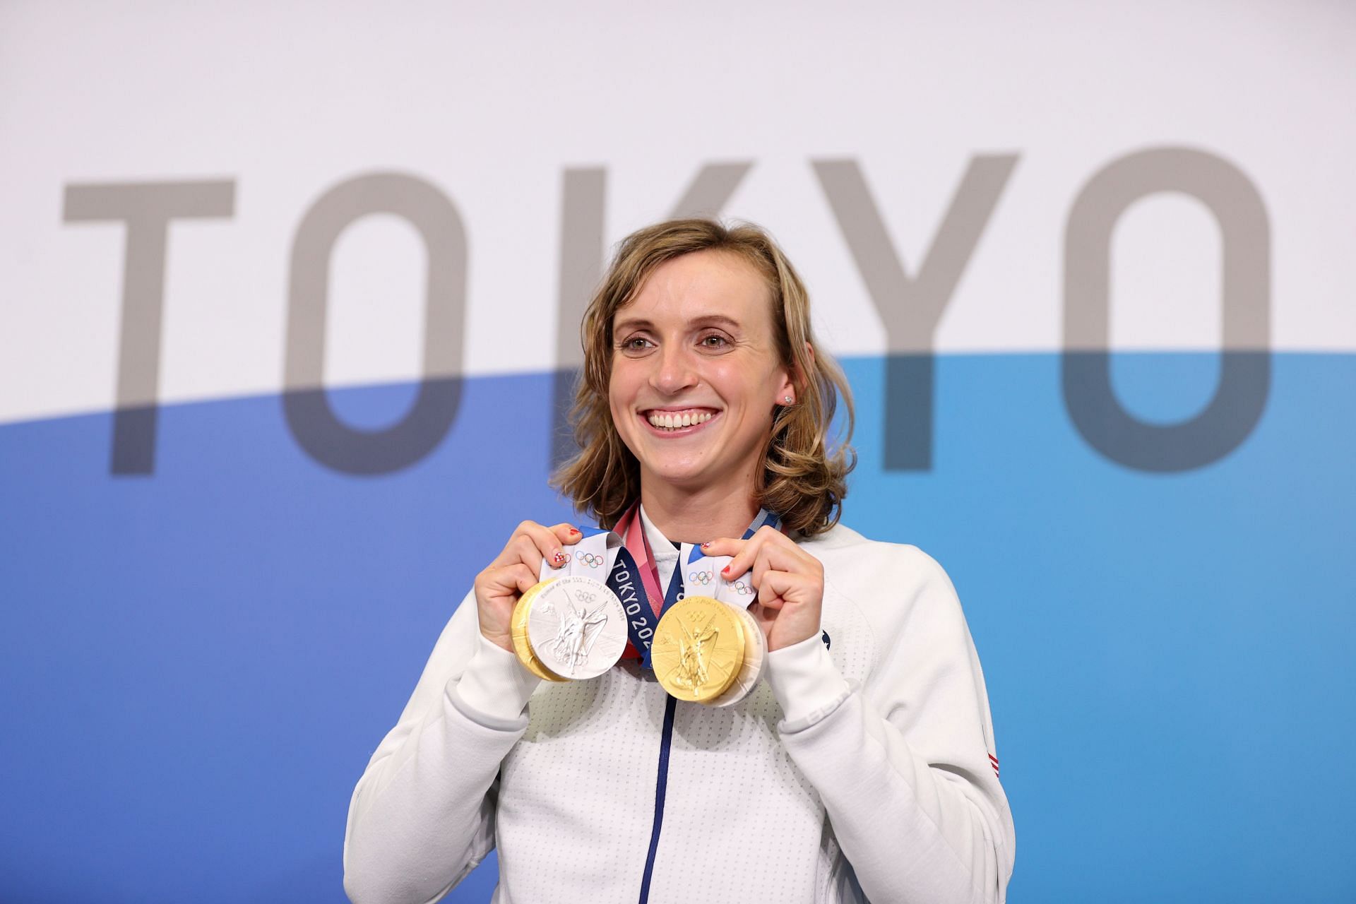
[[[819,637],[776,651],[778,731],[869,900],[1002,904],[1016,840],[979,657],[941,567],[890,549],[898,580],[881,590],[904,598],[869,619],[865,684],[842,678]]]

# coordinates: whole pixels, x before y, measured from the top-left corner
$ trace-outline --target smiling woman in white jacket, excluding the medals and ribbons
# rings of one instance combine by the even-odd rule
[[[495,900],[519,904],[1002,901],[1013,825],[979,660],[934,561],[837,525],[852,464],[826,434],[839,394],[850,431],[850,398],[781,251],[753,226],[643,229],[583,342],[559,485],[625,535],[655,606],[679,545],[732,556],[763,680],[721,709],[635,659],[540,682],[510,615],[580,534],[523,522],[354,790],[350,897],[437,900],[498,844]]]

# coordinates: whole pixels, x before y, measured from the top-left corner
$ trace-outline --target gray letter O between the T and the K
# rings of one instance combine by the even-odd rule
[[[382,430],[340,422],[324,389],[330,255],[339,234],[369,214],[408,221],[427,249],[423,379],[410,412]],[[407,468],[452,428],[461,403],[466,302],[466,234],[452,201],[435,186],[400,173],[342,182],[312,205],[297,226],[287,289],[287,361],[283,412],[292,434],[321,465],[348,474]]]

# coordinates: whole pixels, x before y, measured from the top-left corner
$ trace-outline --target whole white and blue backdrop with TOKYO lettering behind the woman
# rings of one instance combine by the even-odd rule
[[[0,899],[343,900],[675,213],[784,244],[845,522],[957,585],[1010,900],[1351,897],[1349,7],[0,7]]]

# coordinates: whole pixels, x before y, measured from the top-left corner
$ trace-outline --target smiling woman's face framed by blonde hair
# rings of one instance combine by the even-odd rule
[[[767,286],[736,255],[660,264],[613,317],[612,419],[643,485],[750,492],[773,405],[795,392]]]

